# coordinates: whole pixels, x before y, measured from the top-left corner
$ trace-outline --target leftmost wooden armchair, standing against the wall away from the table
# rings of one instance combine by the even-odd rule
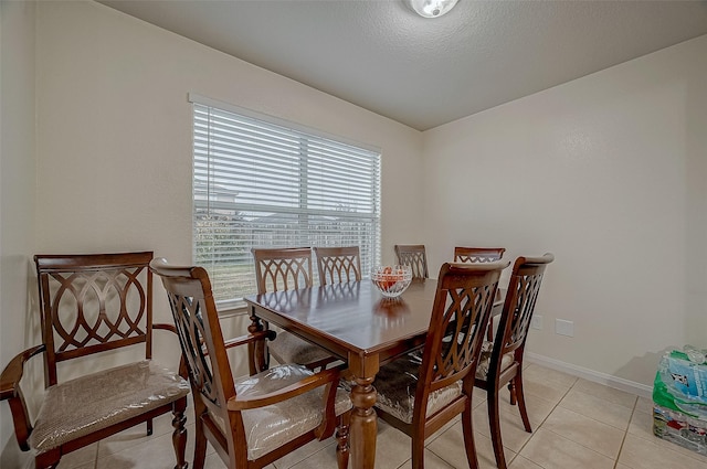
[[[55,468],[66,454],[138,424],[146,423],[151,435],[152,418],[168,412],[176,467],[187,467],[187,375],[151,360],[152,348],[163,344],[154,342],[152,331],[176,332],[171,324],[152,323],[151,259],[151,252],[34,256],[42,343],[8,363],[0,399],[9,401],[15,438],[23,451],[34,451],[35,468]],[[128,350],[140,359],[104,364]],[[42,395],[32,425],[21,380],[38,354],[44,359],[45,390],[32,390]],[[87,372],[66,380],[68,362]],[[31,380],[23,383],[32,386]]]

